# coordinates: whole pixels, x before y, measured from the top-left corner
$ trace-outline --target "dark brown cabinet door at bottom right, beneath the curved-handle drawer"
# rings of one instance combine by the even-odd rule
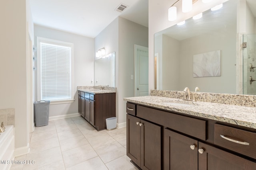
[[[198,170],[256,170],[256,163],[199,142]]]

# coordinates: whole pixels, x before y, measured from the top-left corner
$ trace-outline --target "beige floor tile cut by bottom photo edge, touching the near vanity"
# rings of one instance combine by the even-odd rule
[[[126,155],[106,163],[106,166],[109,170],[138,170]]]

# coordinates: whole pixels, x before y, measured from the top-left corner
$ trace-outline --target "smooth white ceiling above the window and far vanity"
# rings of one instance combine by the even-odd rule
[[[122,12],[116,8],[128,6]],[[36,25],[96,37],[118,16],[148,27],[148,0],[30,0]]]

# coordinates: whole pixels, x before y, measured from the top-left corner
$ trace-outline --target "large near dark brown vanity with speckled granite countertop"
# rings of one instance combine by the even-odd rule
[[[127,155],[147,170],[255,170],[255,107],[124,98]]]

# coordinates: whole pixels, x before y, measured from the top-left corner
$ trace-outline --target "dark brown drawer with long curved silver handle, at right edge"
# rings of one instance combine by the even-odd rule
[[[214,144],[256,159],[256,133],[214,124]]]

